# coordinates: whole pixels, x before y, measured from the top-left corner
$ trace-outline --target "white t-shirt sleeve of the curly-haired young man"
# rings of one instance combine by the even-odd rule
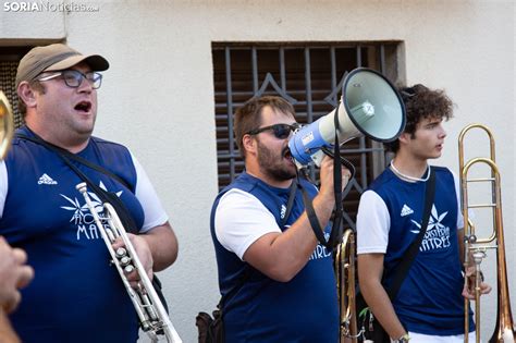
[[[373,191],[360,197],[357,213],[357,254],[385,254],[391,216],[383,199]]]

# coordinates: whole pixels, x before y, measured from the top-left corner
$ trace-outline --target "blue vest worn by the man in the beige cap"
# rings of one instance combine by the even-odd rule
[[[22,128],[25,135],[30,133]],[[144,211],[133,194],[136,171],[128,150],[91,138],[81,157],[109,169],[132,189],[81,163],[96,184],[116,192],[138,228]],[[15,138],[5,159],[9,189],[0,234],[24,248],[35,279],[22,291],[11,320],[25,343],[136,342],[138,323],[105,242],[82,194],[82,180],[54,152]],[[90,193],[94,201],[95,195]]]

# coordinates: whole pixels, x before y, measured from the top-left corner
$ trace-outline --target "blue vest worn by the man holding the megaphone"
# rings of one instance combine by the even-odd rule
[[[317,189],[312,184],[303,181],[303,186],[311,198],[316,196]],[[274,216],[280,228],[290,194],[290,189],[269,186],[244,172],[214,200],[211,237],[221,294],[232,290],[246,272],[250,273],[223,308],[226,342],[336,342],[339,308],[331,252],[318,245],[308,264],[290,282],[271,280],[243,262],[234,253],[226,250],[214,234],[217,206],[221,196],[232,188],[257,197]],[[287,230],[304,211],[303,196],[298,191],[291,216],[281,230]],[[328,236],[330,226],[325,230]]]

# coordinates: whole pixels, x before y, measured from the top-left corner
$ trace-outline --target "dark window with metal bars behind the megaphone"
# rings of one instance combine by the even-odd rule
[[[287,99],[299,123],[311,123],[331,112],[340,99],[346,72],[374,69],[393,83],[397,75],[400,42],[356,44],[212,44],[219,188],[244,169],[233,134],[233,113],[251,97],[277,95]],[[344,199],[344,218],[355,228],[360,194],[384,169],[382,144],[353,139],[341,152],[357,173]],[[310,167],[317,179],[317,169]]]

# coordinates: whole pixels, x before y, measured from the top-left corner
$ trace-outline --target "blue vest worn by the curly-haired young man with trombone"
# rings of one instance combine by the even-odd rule
[[[453,174],[441,167],[435,172],[435,197],[429,224],[407,277],[393,305],[408,331],[452,335],[464,333],[464,279],[457,241],[457,194]],[[384,256],[384,284],[392,283],[395,267],[417,236],[425,206],[426,182],[406,182],[390,169],[370,189],[385,203],[391,218]],[[470,316],[469,328],[475,330]]]

